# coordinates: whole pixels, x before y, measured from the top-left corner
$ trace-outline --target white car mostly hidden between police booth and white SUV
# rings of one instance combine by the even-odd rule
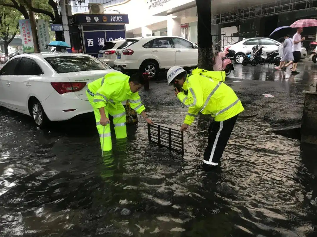
[[[105,42],[105,45],[98,52],[98,58],[110,67],[113,67],[113,62],[117,58],[116,50],[125,41],[126,40],[113,40]]]

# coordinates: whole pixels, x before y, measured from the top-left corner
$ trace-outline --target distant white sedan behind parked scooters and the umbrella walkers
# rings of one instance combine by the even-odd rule
[[[249,38],[238,41],[232,45],[226,45],[224,46],[224,50],[231,49],[236,51],[236,55],[234,56],[233,60],[236,63],[239,63],[240,58],[244,57],[249,52],[251,52],[251,57],[253,57],[252,48],[256,45],[262,45],[264,47],[262,55],[266,55],[267,52],[278,50],[282,44],[269,38]],[[301,58],[306,58],[306,55],[307,51],[304,47],[302,47]]]

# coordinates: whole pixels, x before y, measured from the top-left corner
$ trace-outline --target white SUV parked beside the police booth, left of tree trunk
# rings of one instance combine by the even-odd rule
[[[190,69],[198,64],[197,45],[176,36],[129,38],[117,48],[116,55],[115,70],[149,72],[150,77],[175,65]]]

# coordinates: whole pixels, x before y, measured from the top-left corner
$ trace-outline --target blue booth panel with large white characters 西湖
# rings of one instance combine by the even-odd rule
[[[98,51],[105,45],[106,35],[105,31],[85,31],[84,40],[86,53],[98,53]]]

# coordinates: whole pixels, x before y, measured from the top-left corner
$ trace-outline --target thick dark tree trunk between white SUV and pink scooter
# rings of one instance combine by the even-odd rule
[[[198,67],[213,71],[211,0],[196,0],[198,16]]]

